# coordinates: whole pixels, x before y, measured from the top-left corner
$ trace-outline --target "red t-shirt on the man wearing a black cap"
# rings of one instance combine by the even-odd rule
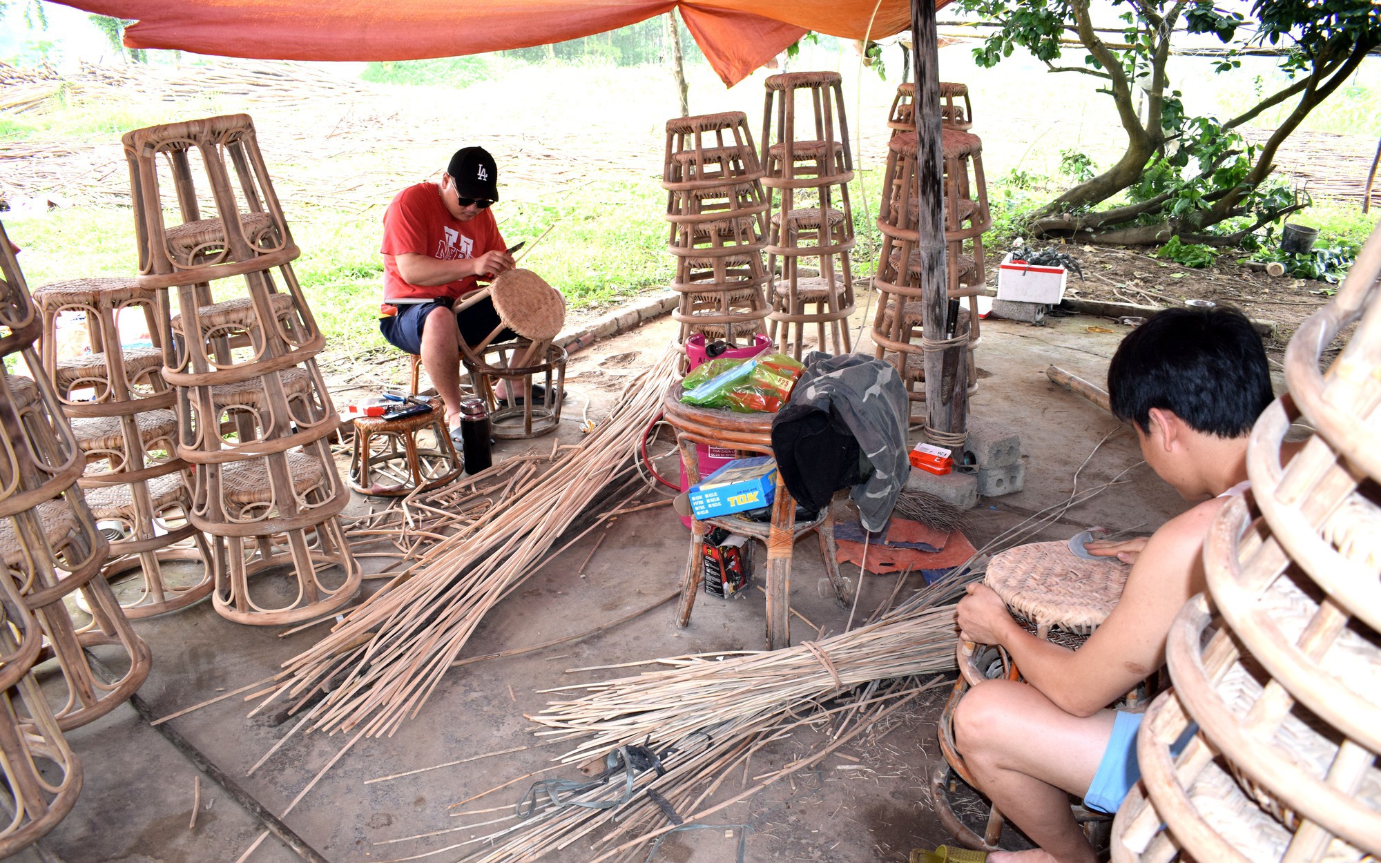
[[[391,297],[460,297],[478,287],[475,278],[468,276],[447,284],[412,284],[398,272],[398,254],[427,254],[441,261],[456,258],[478,258],[486,251],[504,249],[504,237],[499,233],[493,210],[463,222],[454,218],[441,199],[441,186],[434,182],[420,182],[407,186],[394,196],[384,210],[384,298]],[[383,309],[394,313],[394,307]]]

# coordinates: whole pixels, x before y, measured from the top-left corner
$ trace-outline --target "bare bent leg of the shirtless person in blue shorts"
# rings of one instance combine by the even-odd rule
[[[1069,794],[1088,791],[1113,730],[1113,711],[1065,712],[1034,686],[986,681],[954,711],[954,736],[983,794],[1040,849],[992,855],[993,863],[1097,863]]]

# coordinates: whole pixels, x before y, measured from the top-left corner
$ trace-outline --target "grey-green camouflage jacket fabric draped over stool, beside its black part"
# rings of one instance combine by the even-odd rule
[[[859,353],[830,356],[813,351],[805,358],[805,371],[790,403],[826,414],[833,407],[848,425],[873,465],[873,474],[853,486],[849,497],[859,507],[863,526],[882,530],[911,469],[906,447],[910,406],[896,369]]]

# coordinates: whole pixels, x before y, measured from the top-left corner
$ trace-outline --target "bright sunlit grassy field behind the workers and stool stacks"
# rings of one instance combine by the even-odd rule
[[[1266,69],[1244,64],[1233,76],[1213,76],[1206,61],[1181,58],[1179,84],[1192,109],[1228,109],[1266,80]],[[805,46],[795,69],[837,69],[845,80],[859,181],[852,189],[859,229],[856,275],[866,275],[877,247],[877,173],[887,153],[885,117],[900,80],[900,51],[889,47],[887,80],[860,69],[858,54],[837,40]],[[998,220],[990,246],[1010,239],[1012,217],[1068,184],[1066,151],[1106,166],[1120,153],[1110,101],[1081,76],[1048,75],[1014,57],[997,69],[976,69],[964,44],[940,52],[942,77],[967,81]],[[258,64],[262,66],[264,64]],[[19,207],[4,214],[33,286],[47,280],[127,275],[134,268],[133,220],[119,134],[178,119],[246,110],[255,119],[265,157],[302,247],[297,272],[327,329],[333,349],[358,355],[381,347],[376,307],[381,262],[380,218],[394,192],[435,178],[449,155],[468,144],[489,148],[500,166],[496,214],[510,243],[550,233],[523,260],[573,308],[597,309],[671,278],[666,253],[666,206],[660,175],[663,124],[677,113],[668,70],[617,66],[609,59],[529,62],[474,57],[423,64],[284,65],[298,69],[294,86],[257,91],[226,84],[233,61],[214,70],[188,58],[180,69],[149,70],[131,90],[76,83],[40,110],[0,112],[0,192]],[[311,72],[308,75],[307,72]],[[743,110],[754,135],[762,116],[760,70],[733,88],[703,62],[688,68],[690,112]],[[203,86],[193,86],[197,80]],[[168,81],[178,81],[173,87]],[[421,83],[416,83],[421,81]],[[1342,98],[1316,112],[1304,135],[1358,151],[1364,163],[1381,133],[1381,69],[1369,62]],[[1206,108],[1208,106],[1208,108]],[[1340,144],[1341,142],[1341,144]],[[1288,156],[1288,159],[1286,157]],[[1293,162],[1291,162],[1293,160]],[[1301,168],[1351,171],[1351,163]],[[1317,160],[1316,160],[1317,162]],[[17,178],[32,181],[25,186]],[[62,206],[44,214],[23,210],[36,182]],[[1316,188],[1311,181],[1309,188]],[[18,193],[17,193],[18,191]],[[1320,243],[1360,240],[1373,220],[1355,199],[1329,202],[1300,221],[1323,228]],[[41,207],[41,202],[39,203]]]

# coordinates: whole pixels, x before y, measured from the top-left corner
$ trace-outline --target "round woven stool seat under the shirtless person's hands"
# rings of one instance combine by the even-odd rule
[[[993,555],[985,583],[1018,620],[1037,631],[1090,635],[1108,619],[1131,566],[1108,558],[1085,561],[1069,543],[1030,543]]]

